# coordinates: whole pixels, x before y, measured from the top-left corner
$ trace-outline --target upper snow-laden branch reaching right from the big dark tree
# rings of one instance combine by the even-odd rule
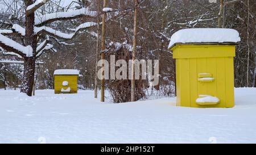
[[[72,10],[67,12],[54,12],[51,14],[46,14],[43,16],[37,16],[35,18],[35,25],[42,26],[48,22],[54,22],[56,20],[64,20],[64,19],[72,19],[76,18],[77,16],[90,16],[96,17],[97,11],[90,11],[88,8],[82,8],[78,10]]]

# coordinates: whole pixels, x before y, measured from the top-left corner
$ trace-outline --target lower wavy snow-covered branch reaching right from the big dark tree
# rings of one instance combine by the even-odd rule
[[[97,23],[95,23],[95,22],[86,22],[86,23],[80,24],[80,26],[76,28],[76,31],[74,33],[70,33],[70,34],[63,33],[61,31],[54,30],[53,28],[46,27],[46,26],[35,27],[34,31],[37,34],[40,33],[40,32],[47,32],[47,33],[50,33],[53,36],[61,37],[63,39],[72,39],[76,35],[76,33],[79,32],[81,29],[89,28],[89,27],[92,27],[92,26],[97,26]]]

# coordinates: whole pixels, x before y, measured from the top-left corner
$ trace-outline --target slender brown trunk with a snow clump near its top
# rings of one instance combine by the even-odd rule
[[[108,0],[104,0],[103,7],[108,6]],[[105,59],[105,37],[106,37],[106,12],[102,16],[102,37],[101,37],[101,60]],[[105,71],[104,71],[105,74]],[[105,101],[105,79],[101,79],[101,102]]]

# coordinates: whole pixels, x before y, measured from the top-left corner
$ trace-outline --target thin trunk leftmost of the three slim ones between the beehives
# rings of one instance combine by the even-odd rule
[[[97,0],[97,10],[98,10],[98,16],[97,16],[97,45],[96,45],[96,64],[95,64],[95,77],[94,77],[94,98],[98,98],[98,78],[97,78],[97,72],[98,72],[98,51],[100,49],[100,0]]]

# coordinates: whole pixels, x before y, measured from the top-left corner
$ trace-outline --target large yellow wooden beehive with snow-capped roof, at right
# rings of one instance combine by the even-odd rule
[[[176,59],[176,105],[234,107],[236,30],[191,28],[180,30],[169,45]]]

